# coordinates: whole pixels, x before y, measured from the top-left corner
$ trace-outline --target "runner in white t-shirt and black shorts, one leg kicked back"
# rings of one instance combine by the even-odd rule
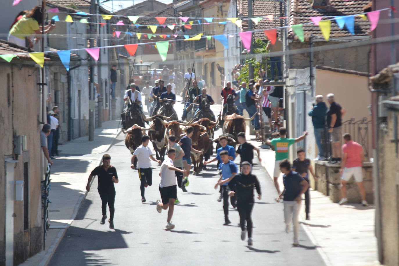
[[[156,210],[158,211],[158,213],[161,213],[162,209],[167,210],[169,208],[168,219],[166,220],[167,223],[164,230],[174,229],[174,225],[171,221],[174,203],[177,199],[176,174],[174,173],[174,171],[179,171],[182,173],[185,172],[185,170],[173,166],[173,160],[175,156],[176,150],[174,148],[170,148],[168,150],[168,158],[165,158],[164,162],[162,162],[159,173],[159,175],[161,176],[159,192],[161,193],[162,203],[159,199],[156,201]]]

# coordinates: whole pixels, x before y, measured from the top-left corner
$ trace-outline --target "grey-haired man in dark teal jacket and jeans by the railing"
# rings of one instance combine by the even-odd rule
[[[324,134],[324,123],[326,122],[327,116],[327,105],[323,101],[323,95],[316,96],[316,105],[312,110],[309,111],[309,116],[312,116],[314,138],[319,149],[319,155],[314,160],[326,160],[323,153],[322,138]]]

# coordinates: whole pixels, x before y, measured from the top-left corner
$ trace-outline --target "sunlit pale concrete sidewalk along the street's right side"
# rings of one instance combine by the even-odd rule
[[[261,148],[262,165],[273,180],[275,152],[255,141],[253,136],[247,136],[247,139],[255,147]],[[279,184],[280,189],[284,189],[282,175],[279,177]],[[277,196],[277,191],[275,193]],[[317,250],[327,265],[381,265],[377,260],[377,240],[374,236],[375,206],[339,206],[332,203],[329,197],[313,189],[310,190],[310,198],[311,220],[305,220],[303,202],[300,223],[313,244],[318,246]]]

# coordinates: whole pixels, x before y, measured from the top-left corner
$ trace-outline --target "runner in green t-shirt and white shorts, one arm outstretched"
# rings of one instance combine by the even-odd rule
[[[286,138],[285,137],[287,134],[286,128],[280,128],[280,138],[273,138],[273,140],[266,140],[267,145],[275,146],[276,162],[273,173],[273,179],[275,187],[279,194],[281,193],[279,182],[277,182],[277,179],[279,178],[279,175],[281,173],[279,164],[280,162],[282,162],[282,160],[288,159],[288,149],[290,148],[290,146],[296,142],[300,142],[306,137],[306,135],[308,135],[307,131],[303,133],[304,134],[298,138]]]

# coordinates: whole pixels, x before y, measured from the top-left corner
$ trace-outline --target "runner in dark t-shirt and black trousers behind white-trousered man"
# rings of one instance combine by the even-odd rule
[[[305,158],[305,150],[302,147],[298,147],[296,149],[296,155],[298,158],[292,162],[292,171],[296,171],[299,173],[309,184],[309,173],[313,175],[314,181],[317,181],[317,177],[314,174],[313,166],[310,164],[310,160]],[[309,188],[305,191],[305,213],[306,213],[306,220],[310,220],[310,195],[309,195]]]

